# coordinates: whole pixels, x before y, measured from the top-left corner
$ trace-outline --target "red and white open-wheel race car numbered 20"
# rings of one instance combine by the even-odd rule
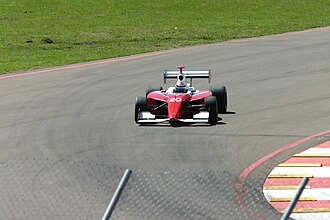
[[[136,97],[135,122],[137,124],[169,122],[177,125],[187,123],[218,123],[218,114],[227,111],[227,90],[225,86],[196,90],[192,80],[207,78],[211,81],[211,70],[164,70],[164,84],[167,79],[177,79],[174,87],[164,90],[162,87],[149,86],[145,96]],[[190,83],[186,82],[190,79]]]

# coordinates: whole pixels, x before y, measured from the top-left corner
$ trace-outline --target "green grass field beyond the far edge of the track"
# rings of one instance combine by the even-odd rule
[[[0,73],[327,25],[329,0],[1,0]]]

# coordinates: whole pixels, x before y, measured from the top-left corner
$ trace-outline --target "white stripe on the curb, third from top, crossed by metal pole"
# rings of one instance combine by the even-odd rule
[[[267,200],[273,198],[293,198],[297,193],[297,190],[274,190],[267,189],[263,190]],[[300,196],[301,198],[316,198],[316,200],[330,200],[330,190],[329,188],[316,188],[316,189],[305,189]]]

